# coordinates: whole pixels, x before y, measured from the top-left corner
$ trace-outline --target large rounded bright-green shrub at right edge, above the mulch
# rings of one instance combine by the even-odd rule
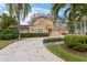
[[[76,51],[87,51],[87,35],[66,35],[65,44]]]

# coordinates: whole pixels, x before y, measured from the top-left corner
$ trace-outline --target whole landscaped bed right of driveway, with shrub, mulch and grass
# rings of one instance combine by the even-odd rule
[[[54,43],[46,46],[53,54],[68,62],[87,62],[87,35],[66,35],[64,44]]]

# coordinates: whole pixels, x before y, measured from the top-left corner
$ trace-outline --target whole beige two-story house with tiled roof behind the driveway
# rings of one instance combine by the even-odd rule
[[[67,29],[54,25],[51,17],[39,15],[30,25],[21,25],[21,33],[50,33],[51,35],[67,33]]]

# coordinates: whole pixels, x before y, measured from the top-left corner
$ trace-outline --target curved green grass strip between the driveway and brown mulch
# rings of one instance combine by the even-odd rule
[[[53,45],[53,46],[47,46],[47,48],[54,53],[55,55],[62,57],[63,59],[67,62],[87,62],[87,57],[74,55],[72,53],[68,53],[64,48],[62,48],[59,45]]]

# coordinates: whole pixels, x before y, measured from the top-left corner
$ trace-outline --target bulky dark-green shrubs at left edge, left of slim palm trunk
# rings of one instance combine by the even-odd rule
[[[3,30],[0,34],[1,40],[11,40],[17,37],[18,37],[18,30],[15,29]]]

